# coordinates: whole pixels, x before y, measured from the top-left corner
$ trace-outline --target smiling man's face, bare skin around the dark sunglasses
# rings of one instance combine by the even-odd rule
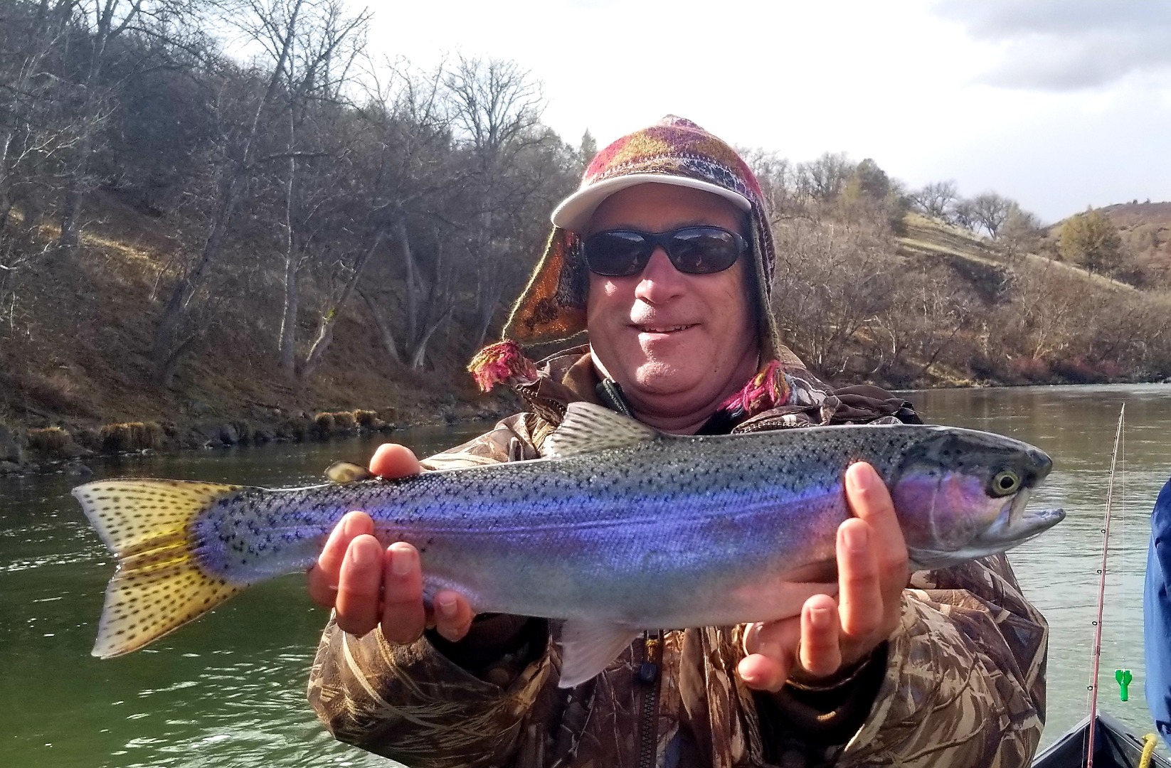
[[[740,221],[737,208],[719,196],[641,184],[607,198],[586,234],[693,225],[740,232]],[[691,275],[677,270],[659,247],[642,274],[590,273],[590,344],[637,411],[671,417],[703,410],[755,372],[759,347],[745,288],[746,260],[724,272]]]

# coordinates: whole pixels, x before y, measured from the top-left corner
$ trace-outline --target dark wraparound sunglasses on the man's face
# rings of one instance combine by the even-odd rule
[[[639,274],[655,248],[663,246],[666,258],[679,272],[710,275],[724,272],[748,249],[735,232],[723,227],[680,227],[670,232],[608,229],[586,238],[582,253],[586,266],[597,275],[629,277]]]

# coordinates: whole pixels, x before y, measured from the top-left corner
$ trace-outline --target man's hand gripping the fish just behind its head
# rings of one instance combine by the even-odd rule
[[[814,595],[800,616],[749,625],[739,665],[748,687],[833,683],[898,626],[910,574],[890,493],[874,467],[858,462],[845,471],[845,498],[855,516],[837,529],[838,599]]]

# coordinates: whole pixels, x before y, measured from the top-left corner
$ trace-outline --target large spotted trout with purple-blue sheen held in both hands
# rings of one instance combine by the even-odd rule
[[[424,596],[563,622],[560,685],[602,671],[646,629],[795,616],[836,594],[845,468],[890,488],[915,569],[1005,551],[1062,520],[1026,510],[1052,460],[1008,437],[929,425],[673,436],[589,403],[542,457],[267,489],[88,482],[74,496],[118,564],[93,654],[129,653],[259,582],[302,571],[351,509],[418,551]]]

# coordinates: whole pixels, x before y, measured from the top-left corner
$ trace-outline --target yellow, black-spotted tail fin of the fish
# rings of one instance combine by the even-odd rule
[[[74,488],[90,524],[118,558],[91,653],[129,653],[235,595],[200,569],[192,521],[241,486],[182,480],[102,480]]]

